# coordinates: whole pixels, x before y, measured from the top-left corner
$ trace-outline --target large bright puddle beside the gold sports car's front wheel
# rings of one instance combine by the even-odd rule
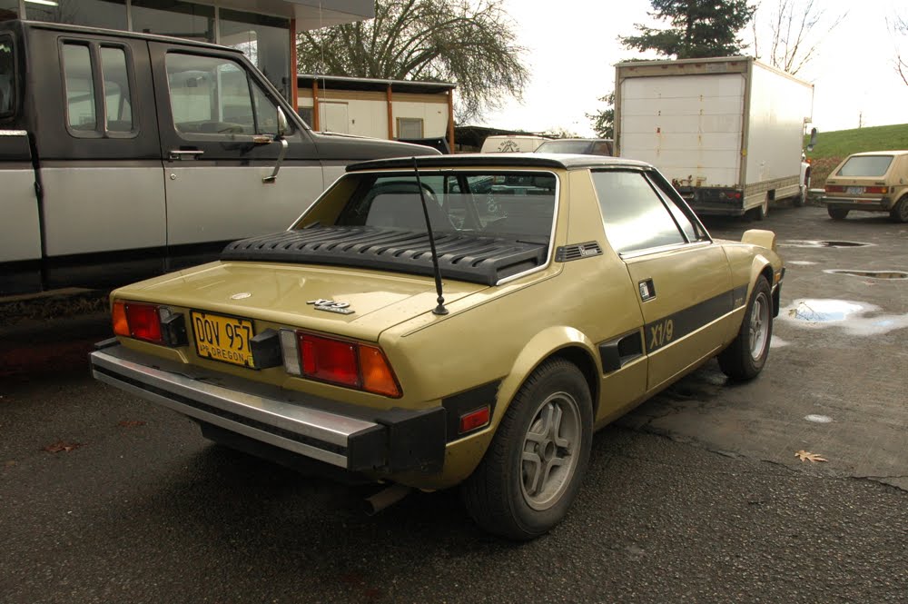
[[[908,327],[908,314],[882,314],[879,306],[847,300],[795,300],[781,309],[779,319],[805,328],[841,327],[852,335],[879,335]]]

